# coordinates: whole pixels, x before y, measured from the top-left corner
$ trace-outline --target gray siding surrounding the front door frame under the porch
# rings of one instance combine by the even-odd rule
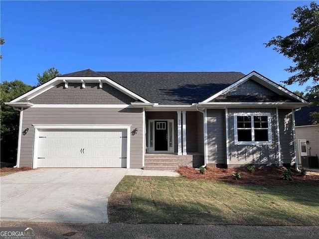
[[[150,119],[173,119],[174,120],[174,152],[177,153],[177,113],[176,112],[146,112],[147,147],[149,144],[149,120]],[[187,121],[186,121],[187,122]],[[187,135],[187,134],[186,134]]]

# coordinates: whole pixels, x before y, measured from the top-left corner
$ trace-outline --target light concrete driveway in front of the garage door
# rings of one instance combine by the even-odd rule
[[[1,177],[0,219],[108,222],[108,198],[126,168],[36,169]]]

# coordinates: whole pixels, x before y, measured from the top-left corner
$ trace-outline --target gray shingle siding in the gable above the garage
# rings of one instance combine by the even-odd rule
[[[50,90],[43,92],[30,100],[33,104],[105,104],[105,105],[129,105],[135,100],[120,92],[114,87],[104,83],[99,89],[97,83],[87,83],[85,88],[80,83],[69,83],[64,88],[61,83]]]

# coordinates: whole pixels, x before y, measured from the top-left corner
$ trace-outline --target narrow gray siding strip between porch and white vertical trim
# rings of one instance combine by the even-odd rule
[[[207,110],[208,163],[226,163],[225,110]]]

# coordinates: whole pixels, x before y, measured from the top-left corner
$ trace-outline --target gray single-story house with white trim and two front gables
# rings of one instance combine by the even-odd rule
[[[294,111],[309,103],[257,72],[58,76],[7,103],[17,167],[293,164]]]

